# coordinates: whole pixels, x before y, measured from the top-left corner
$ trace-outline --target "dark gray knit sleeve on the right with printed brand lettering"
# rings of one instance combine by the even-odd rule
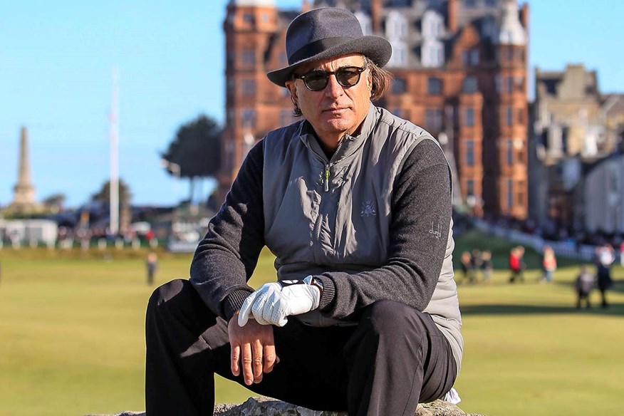
[[[348,318],[382,299],[422,311],[435,290],[447,249],[452,202],[450,170],[440,147],[423,140],[395,179],[390,247],[383,266],[358,274],[326,272],[319,308],[330,318]],[[436,236],[440,231],[441,235]]]

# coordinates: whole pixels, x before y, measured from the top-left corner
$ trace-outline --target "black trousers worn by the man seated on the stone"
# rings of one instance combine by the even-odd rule
[[[431,317],[395,301],[365,308],[358,326],[315,328],[291,316],[274,338],[279,363],[246,386],[230,371],[227,323],[189,281],[160,286],[147,306],[147,416],[212,415],[214,373],[313,410],[412,416],[418,402],[444,396],[457,373]]]

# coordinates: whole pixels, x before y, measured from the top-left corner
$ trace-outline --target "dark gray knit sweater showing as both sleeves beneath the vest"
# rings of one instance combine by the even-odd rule
[[[254,291],[246,282],[264,247],[263,163],[259,142],[244,160],[191,264],[192,284],[226,321]],[[363,279],[349,279],[338,271],[318,276],[323,281],[319,306],[323,315],[343,318],[378,299],[402,301],[420,311],[429,303],[446,247],[415,236],[429,233],[430,224],[450,224],[452,213],[449,167],[432,140],[420,142],[405,160],[395,179],[391,206],[387,263],[363,272]],[[449,225],[440,231],[441,241],[447,241]]]

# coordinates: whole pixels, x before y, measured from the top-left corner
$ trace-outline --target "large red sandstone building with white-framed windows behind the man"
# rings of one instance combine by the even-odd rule
[[[285,88],[266,72],[287,65],[284,35],[301,11],[342,6],[365,34],[392,43],[395,76],[381,105],[427,129],[454,168],[455,204],[473,214],[524,219],[527,199],[529,7],[516,0],[230,0],[221,196],[249,148],[296,121]]]

